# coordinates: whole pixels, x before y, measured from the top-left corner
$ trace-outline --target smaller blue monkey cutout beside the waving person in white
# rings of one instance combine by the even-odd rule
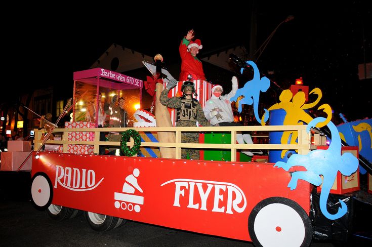
[[[258,114],[258,103],[260,100],[260,91],[266,92],[268,88],[270,87],[270,80],[264,76],[260,78],[260,71],[257,68],[257,65],[253,61],[246,61],[247,64],[251,65],[253,67],[254,76],[253,79],[250,81],[247,81],[244,86],[236,91],[236,94],[234,97],[232,97],[230,100],[235,101],[238,97],[244,96],[243,99],[239,100],[239,106],[238,111],[241,112],[241,105],[252,105],[253,104],[253,110],[255,112],[256,120],[261,123],[261,117]],[[240,70],[241,73],[243,73],[243,69]],[[269,112],[268,110],[265,110],[265,119],[266,122],[267,119],[269,119]]]

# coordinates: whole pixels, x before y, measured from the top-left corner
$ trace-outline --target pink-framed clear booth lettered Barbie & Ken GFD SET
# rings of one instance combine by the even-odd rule
[[[119,97],[125,99],[128,113],[134,112],[135,104],[141,105],[143,81],[140,79],[103,68],[76,71],[73,79],[74,121],[91,121],[98,127],[99,111],[96,109],[107,112],[109,105],[117,105],[115,99]],[[108,120],[103,119],[102,127],[107,127],[107,124]]]

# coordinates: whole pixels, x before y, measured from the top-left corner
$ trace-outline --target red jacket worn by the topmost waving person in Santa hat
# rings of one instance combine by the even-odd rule
[[[187,51],[187,46],[189,45],[190,41],[186,38],[181,40],[180,44],[180,56],[182,59],[181,64],[181,73],[180,73],[180,81],[187,80],[187,75],[191,74],[192,78],[197,80],[205,80],[205,75],[203,71],[203,66],[201,61],[191,55],[190,52]]]

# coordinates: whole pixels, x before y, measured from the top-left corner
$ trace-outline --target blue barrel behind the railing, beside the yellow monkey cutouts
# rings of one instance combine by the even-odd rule
[[[271,110],[269,117],[269,125],[283,125],[286,112],[283,109]],[[269,133],[269,144],[281,144],[280,139],[283,136],[282,131],[271,131]],[[292,135],[291,135],[292,136]],[[291,136],[288,138],[287,144],[290,143]],[[282,150],[270,150],[269,162],[275,163],[277,161],[286,162],[288,160],[288,153],[296,153],[295,150],[287,151],[283,158],[280,157]]]

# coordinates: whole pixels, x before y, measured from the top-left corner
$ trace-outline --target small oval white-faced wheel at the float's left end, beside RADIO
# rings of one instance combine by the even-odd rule
[[[53,186],[48,175],[42,172],[36,173],[31,179],[31,202],[33,206],[44,211],[48,209],[53,199]]]

